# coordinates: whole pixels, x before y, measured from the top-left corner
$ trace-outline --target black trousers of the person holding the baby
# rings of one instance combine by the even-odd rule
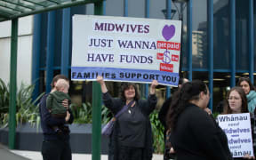
[[[44,160],[72,160],[71,148],[68,141],[43,141],[42,156]]]

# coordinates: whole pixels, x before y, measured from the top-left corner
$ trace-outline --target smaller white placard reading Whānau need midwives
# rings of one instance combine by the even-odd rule
[[[253,156],[250,114],[219,115],[217,118],[220,128],[227,134],[233,157]]]

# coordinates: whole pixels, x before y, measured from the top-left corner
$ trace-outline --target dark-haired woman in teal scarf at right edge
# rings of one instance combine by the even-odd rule
[[[248,110],[255,115],[256,92],[254,91],[252,82],[248,77],[241,77],[239,78],[237,85],[243,88],[247,98]]]

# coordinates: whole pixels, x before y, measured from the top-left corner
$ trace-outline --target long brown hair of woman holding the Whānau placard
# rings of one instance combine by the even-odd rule
[[[228,104],[228,97],[229,97],[230,93],[233,92],[233,91],[238,92],[238,94],[240,95],[240,97],[242,99],[242,110],[241,110],[241,112],[242,113],[248,113],[249,110],[248,110],[248,107],[247,107],[247,98],[246,98],[245,92],[244,92],[243,88],[236,86],[236,87],[231,88],[231,90],[228,92],[227,99],[225,100],[224,111],[223,111],[222,114],[232,114],[232,110],[231,110],[231,108]]]

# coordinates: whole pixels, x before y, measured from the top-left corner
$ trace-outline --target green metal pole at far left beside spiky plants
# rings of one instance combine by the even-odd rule
[[[16,92],[17,92],[17,48],[18,48],[18,18],[12,20],[11,37],[11,73],[9,101],[9,148],[15,147],[16,134]]]

